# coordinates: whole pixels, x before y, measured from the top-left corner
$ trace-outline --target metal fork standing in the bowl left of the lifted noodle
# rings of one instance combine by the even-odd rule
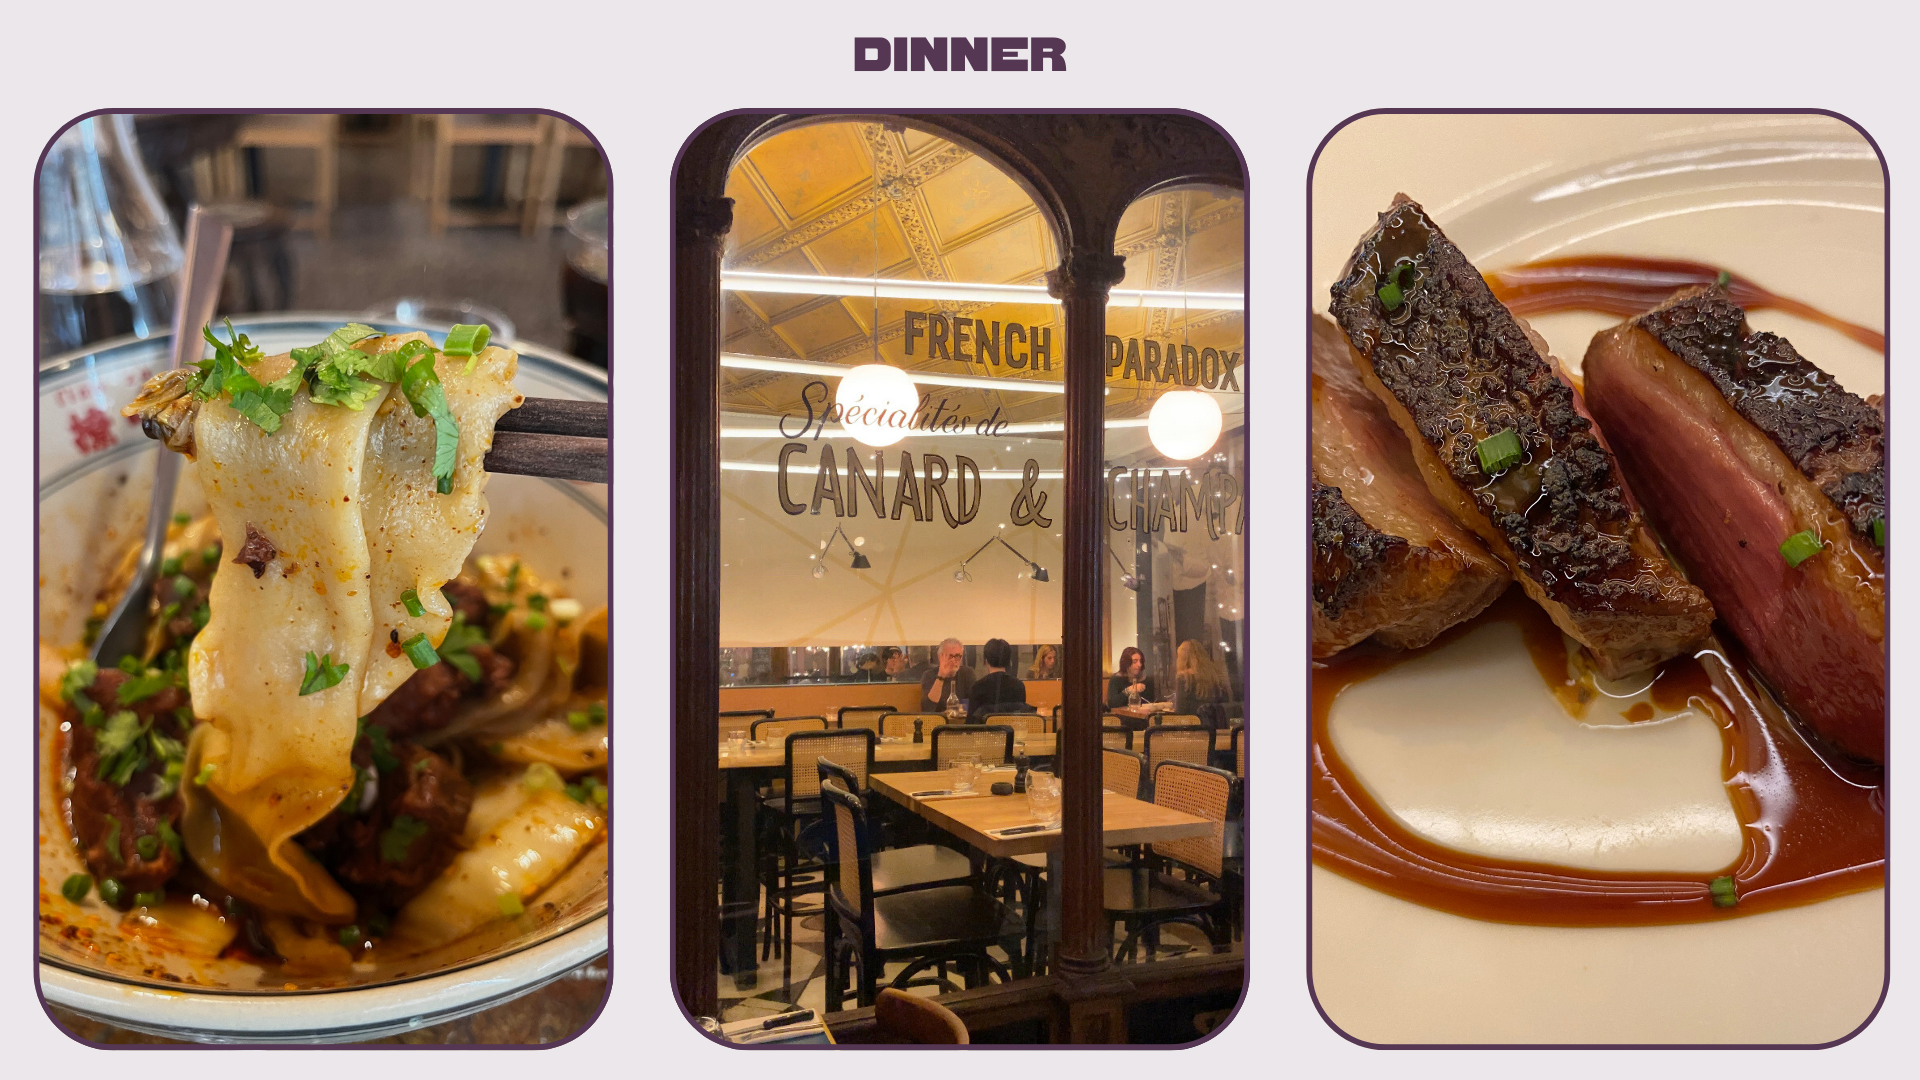
[[[186,215],[186,259],[180,263],[180,300],[173,309],[171,367],[186,367],[200,359],[202,336],[194,331],[213,321],[232,238],[232,225],[217,213],[196,206]],[[146,507],[146,542],[140,548],[140,565],[94,640],[92,659],[102,667],[119,663],[125,655],[140,655],[146,648],[148,592],[165,557],[167,523],[173,521],[173,490],[180,479],[179,454],[161,446],[154,457],[154,498]]]

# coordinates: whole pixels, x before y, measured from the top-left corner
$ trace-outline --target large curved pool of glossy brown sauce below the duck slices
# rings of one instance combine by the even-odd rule
[[[1484,621],[1519,625],[1542,678],[1571,711],[1594,698],[1569,675],[1559,626],[1519,588],[1509,588],[1478,619],[1448,630],[1427,650]],[[1313,665],[1315,865],[1423,907],[1538,926],[1705,922],[1885,882],[1880,776],[1843,776],[1828,765],[1770,698],[1755,692],[1738,651],[1716,638],[1692,657],[1667,661],[1649,696],[1667,711],[1692,701],[1720,724],[1728,794],[1745,834],[1734,867],[1713,874],[1580,871],[1469,855],[1413,834],[1338,759],[1327,723],[1342,690],[1427,650],[1361,644]],[[1740,896],[1734,907],[1713,903],[1709,882],[1722,874],[1734,876]]]

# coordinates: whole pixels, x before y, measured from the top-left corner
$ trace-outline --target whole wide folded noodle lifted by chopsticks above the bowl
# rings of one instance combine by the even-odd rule
[[[361,348],[390,352],[417,338],[424,334]],[[265,382],[290,365],[275,356],[253,371]],[[482,459],[493,423],[522,400],[515,367],[515,354],[499,348],[484,350],[472,373],[465,357],[438,357],[461,425],[444,496],[434,492],[434,421],[417,417],[392,386],[380,384],[361,409],[319,405],[300,390],[275,432],[223,398],[200,407],[196,461],[221,536],[252,528],[276,553],[259,577],[228,565],[213,578],[211,619],[188,657],[194,715],[207,721],[190,765],[205,786],[188,788],[182,834],[202,869],[267,911],[353,917],[353,899],[294,836],[353,788],[359,717],[413,675],[392,646],[415,634],[438,644],[447,632],[440,586],[486,523]],[[407,588],[419,617],[401,603]],[[315,659],[348,671],[319,686]],[[242,855],[248,849],[265,861]]]

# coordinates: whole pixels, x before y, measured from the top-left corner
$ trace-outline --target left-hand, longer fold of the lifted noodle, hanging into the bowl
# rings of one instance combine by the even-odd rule
[[[286,356],[267,357],[253,375],[267,382],[290,365]],[[276,550],[261,577],[234,563],[213,575],[213,617],[188,653],[194,713],[227,744],[202,748],[215,767],[207,790],[326,919],[351,919],[353,899],[298,851],[294,836],[326,817],[353,784],[349,755],[372,634],[361,465],[386,392],[353,411],[315,405],[301,390],[271,434],[225,400],[209,400],[194,432],[200,486],[227,550],[238,552],[250,527]],[[309,651],[353,671],[338,686],[301,696]],[[217,830],[194,832],[217,840]],[[194,847],[194,861],[209,872],[225,865],[219,853]],[[259,890],[240,874],[221,880],[215,872],[215,880],[269,903],[250,896]]]

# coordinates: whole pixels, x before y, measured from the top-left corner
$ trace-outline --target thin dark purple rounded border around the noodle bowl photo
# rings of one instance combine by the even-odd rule
[[[555,117],[555,119],[563,119],[563,121],[574,125],[582,135],[586,135],[588,140],[593,144],[593,150],[601,156],[601,167],[607,173],[607,402],[609,402],[607,407],[612,409],[612,400],[614,400],[612,398],[612,379],[614,379],[614,375],[612,375],[612,344],[614,344],[614,321],[616,321],[612,317],[612,263],[614,263],[614,244],[612,244],[612,229],[614,229],[612,160],[607,156],[607,148],[601,146],[601,140],[599,140],[597,135],[593,135],[593,131],[589,131],[584,123],[576,121],[574,117],[570,117],[570,115],[566,115],[563,111],[557,111],[557,110],[472,110],[472,108],[451,108],[451,110],[430,110],[430,108],[420,108],[420,110],[403,110],[403,108],[394,108],[394,110],[369,110],[369,108],[351,108],[351,110],[202,110],[202,108],[167,110],[167,108],[108,108],[108,110],[88,110],[88,111],[84,111],[84,113],[69,119],[67,123],[60,125],[54,131],[54,135],[46,140],[46,146],[40,148],[40,158],[33,165],[33,173],[35,173],[35,188],[33,188],[33,221],[35,221],[33,259],[35,259],[35,269],[33,269],[33,281],[38,282],[38,279],[40,279],[38,277],[38,261],[40,261],[40,184],[38,184],[38,175],[40,175],[40,169],[46,167],[46,156],[54,150],[54,142],[58,142],[60,136],[67,133],[67,129],[71,129],[73,125],[81,123],[83,119],[90,119],[90,117],[96,117],[96,115],[109,115],[109,113],[175,113],[175,115],[188,115],[188,113],[194,113],[194,115],[236,115],[236,113],[238,115],[269,115],[269,113],[273,113],[273,115],[288,115],[288,113],[300,113],[300,115],[434,115],[434,113],[461,113],[461,115],[488,115],[488,113],[511,113],[511,111],[538,113],[538,115],[549,115],[549,117]],[[35,294],[35,307],[33,307],[33,334],[35,334],[35,363],[33,363],[33,375],[31,375],[25,390],[33,398],[33,429],[40,430],[40,394],[38,394],[38,384],[40,384],[40,350],[38,350],[38,340],[40,340],[40,304],[38,304],[38,292]],[[616,548],[614,548],[614,536],[612,536],[612,517],[614,517],[612,515],[612,505],[614,505],[614,502],[612,502],[612,492],[614,492],[614,477],[612,477],[612,473],[614,473],[614,457],[616,457],[616,454],[614,454],[614,429],[618,425],[609,425],[609,429],[607,429],[607,598],[609,598],[609,603],[607,603],[607,650],[609,650],[609,655],[612,653],[612,644],[614,644],[614,636],[612,636],[614,634],[614,617],[612,617],[614,557],[612,557],[612,553],[614,553]],[[40,565],[40,530],[38,530],[38,521],[40,521],[40,500],[38,500],[38,490],[40,490],[40,457],[38,457],[38,454],[35,454],[35,461],[33,461],[33,482],[35,482],[33,561],[35,561],[35,575],[38,575],[38,565]],[[40,625],[40,590],[38,590],[38,586],[33,590],[33,619],[35,619],[35,626],[38,626]],[[29,715],[38,717],[38,713],[40,713],[38,678],[29,680],[29,690],[31,690],[31,698],[29,698],[29,709],[31,711],[29,711]],[[614,675],[612,675],[612,669],[609,669],[609,673],[607,673],[607,707],[609,707],[609,711],[612,711],[612,692],[614,692]],[[612,874],[612,869],[614,869],[614,859],[612,859],[612,851],[611,849],[609,849],[609,859],[607,859],[607,953],[605,953],[605,959],[607,959],[607,988],[601,992],[601,1003],[593,1011],[593,1015],[588,1017],[588,1020],[584,1024],[580,1024],[580,1028],[574,1030],[574,1034],[566,1036],[564,1040],[551,1042],[551,1043],[365,1043],[365,1042],[363,1043],[301,1043],[301,1042],[288,1042],[288,1043],[100,1043],[100,1042],[92,1042],[88,1038],[83,1038],[81,1034],[67,1030],[65,1024],[61,1024],[60,1020],[54,1019],[54,1013],[52,1013],[52,1009],[46,1003],[46,994],[40,992],[40,924],[38,924],[38,911],[40,911],[40,886],[38,886],[38,880],[40,880],[40,872],[38,872],[38,849],[40,849],[40,844],[38,844],[38,840],[40,840],[40,836],[38,836],[38,828],[40,828],[40,822],[38,822],[38,815],[40,815],[40,782],[44,780],[44,769],[40,767],[40,724],[38,724],[38,721],[35,721],[35,724],[33,724],[31,740],[33,742],[29,746],[29,759],[35,763],[35,769],[33,769],[33,807],[35,807],[35,813],[33,813],[33,849],[35,849],[35,869],[33,869],[33,874],[29,874],[29,880],[33,882],[33,905],[31,905],[31,909],[36,915],[36,919],[33,922],[33,994],[40,1001],[40,1011],[46,1013],[46,1020],[50,1024],[54,1024],[54,1030],[58,1030],[60,1034],[71,1038],[73,1042],[77,1042],[81,1045],[94,1047],[94,1049],[551,1049],[551,1047],[557,1047],[557,1045],[566,1045],[566,1043],[574,1042],[576,1038],[580,1038],[582,1034],[586,1034],[586,1030],[591,1028],[593,1024],[597,1024],[599,1019],[601,1019],[601,1015],[607,1011],[607,999],[612,995],[612,913],[614,913],[614,903],[612,903],[612,897],[614,897],[612,876],[614,874]],[[607,822],[609,822],[609,828],[612,826],[612,811],[614,811],[612,790],[616,788],[616,784],[614,784],[612,740],[614,740],[612,726],[609,726],[607,728],[607,786],[609,786]],[[503,955],[513,955],[513,953],[503,953]],[[495,959],[499,959],[499,957],[495,957]],[[451,970],[463,970],[463,969],[451,969]],[[388,982],[388,984],[382,984],[382,986],[397,986],[397,984],[405,984],[405,982],[417,982],[420,978],[434,978],[434,976],[440,976],[440,974],[451,974],[451,970],[426,972],[426,974],[419,974],[419,976],[413,976],[413,978],[401,978],[401,980],[396,980],[396,982]],[[351,994],[351,992],[353,992],[351,988],[348,988],[348,990],[319,990],[319,992],[309,992],[305,995],[317,997],[317,995],[323,995],[323,994]],[[253,995],[253,992],[230,992],[230,994],[234,995],[236,1003],[246,1001],[248,997]],[[499,1001],[495,1005],[486,1005],[486,1007],[497,1007],[497,1005],[503,1005],[503,1003],[505,1001]],[[451,1020],[447,1020],[447,1022],[451,1022]]]

